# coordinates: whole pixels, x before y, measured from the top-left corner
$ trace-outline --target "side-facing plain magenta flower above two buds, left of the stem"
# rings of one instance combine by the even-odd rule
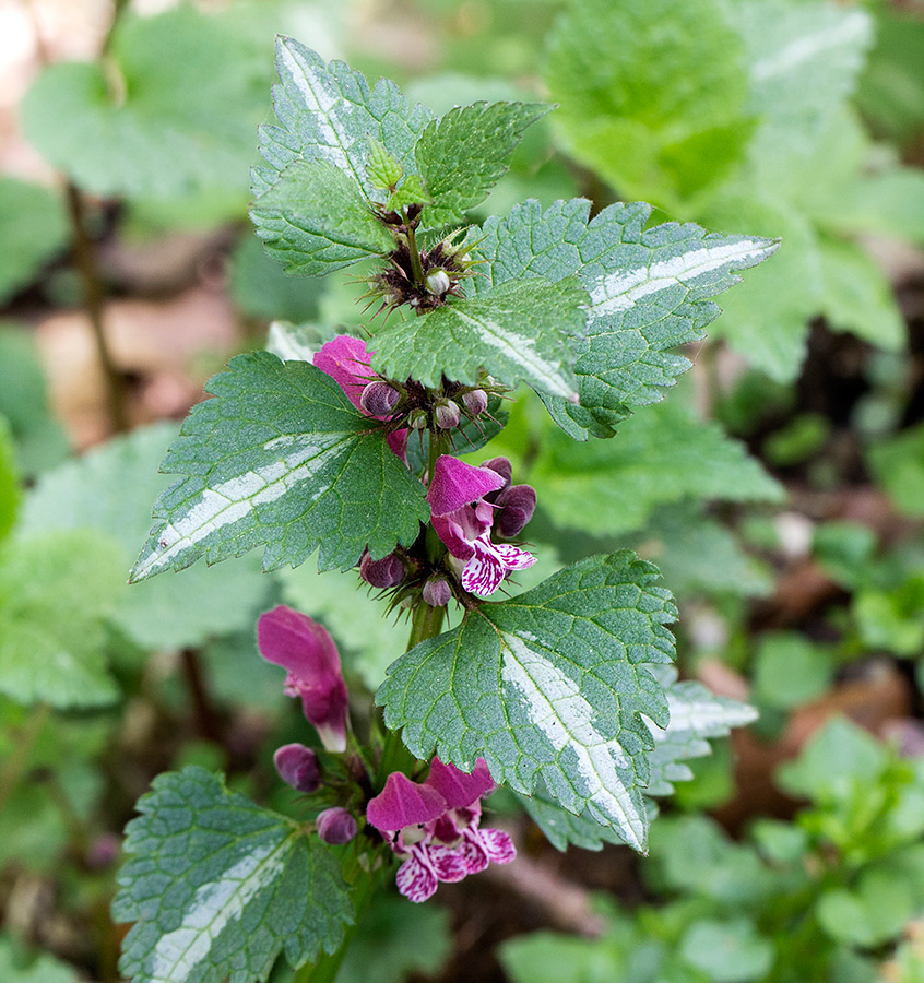
[[[257,623],[260,654],[288,670],[286,696],[301,697],[305,716],[328,750],[346,749],[347,697],[333,639],[307,615],[281,604]]]

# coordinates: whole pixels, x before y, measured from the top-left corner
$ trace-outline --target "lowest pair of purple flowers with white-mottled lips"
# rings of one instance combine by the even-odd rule
[[[481,829],[482,796],[494,789],[487,765],[478,758],[471,774],[434,758],[423,784],[392,772],[366,810],[404,863],[398,889],[411,901],[426,901],[440,881],[462,880],[494,861],[509,864],[517,855],[510,837]]]

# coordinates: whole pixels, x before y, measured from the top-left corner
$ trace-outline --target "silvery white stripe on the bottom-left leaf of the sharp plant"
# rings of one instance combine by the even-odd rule
[[[151,957],[151,983],[183,983],[208,958],[215,940],[239,921],[251,899],[282,869],[288,838],[254,850],[218,879],[203,884],[178,928],[161,936]]]

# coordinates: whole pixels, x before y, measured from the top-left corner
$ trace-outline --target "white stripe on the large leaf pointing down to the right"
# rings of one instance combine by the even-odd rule
[[[603,817],[604,825],[616,824],[636,850],[642,850],[645,817],[636,808],[619,778],[617,767],[629,767],[629,759],[616,741],[607,741],[593,726],[595,712],[581,696],[578,684],[568,678],[544,655],[530,649],[532,637],[505,635],[507,650],[501,677],[514,686],[529,706],[530,721],[557,750],[569,748],[577,757],[578,770],[587,782],[588,808]]]

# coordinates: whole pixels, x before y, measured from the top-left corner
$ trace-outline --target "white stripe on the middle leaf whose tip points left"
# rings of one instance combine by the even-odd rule
[[[189,511],[178,514],[159,531],[156,547],[134,568],[132,578],[142,580],[156,573],[211,533],[239,522],[257,506],[275,501],[311,478],[324,465],[325,452],[344,436],[298,434],[277,437],[263,445],[263,450],[271,453],[284,447],[293,450],[270,464],[228,478],[214,488],[204,488]],[[316,489],[312,501],[327,490],[327,486]]]

